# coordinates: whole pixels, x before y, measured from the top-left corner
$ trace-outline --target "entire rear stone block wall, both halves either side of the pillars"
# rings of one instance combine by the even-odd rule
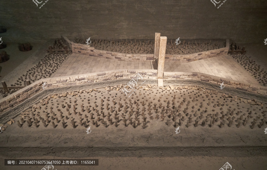
[[[76,54],[89,55],[93,57],[107,58],[118,61],[150,62],[154,60],[154,54],[124,54],[124,53],[109,52],[104,50],[96,50],[94,47],[90,47],[89,45],[77,44],[71,42],[67,37],[61,36],[61,38],[63,39],[63,42],[65,42],[68,45],[68,47],[72,49],[72,53]],[[185,62],[197,61],[205,58],[212,58],[220,55],[225,55],[228,53],[228,50],[229,50],[229,39],[226,40],[226,47],[216,50],[209,50],[200,53],[185,54],[185,55],[166,54],[165,62],[185,63]]]

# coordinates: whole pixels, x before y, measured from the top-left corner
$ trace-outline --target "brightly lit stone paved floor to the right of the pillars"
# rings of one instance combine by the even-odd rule
[[[165,63],[165,72],[201,72],[244,83],[259,85],[258,81],[230,55],[207,58],[189,63]]]

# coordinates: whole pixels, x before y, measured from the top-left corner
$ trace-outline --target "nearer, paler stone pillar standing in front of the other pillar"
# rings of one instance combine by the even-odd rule
[[[165,63],[165,53],[166,53],[166,44],[167,37],[160,37],[160,45],[159,45],[159,55],[158,55],[158,86],[163,86],[163,71],[164,71],[164,63]]]

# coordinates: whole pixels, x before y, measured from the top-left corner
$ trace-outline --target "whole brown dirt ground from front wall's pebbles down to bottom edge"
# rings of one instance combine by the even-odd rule
[[[15,123],[8,125],[1,133],[3,154],[1,160],[4,158],[98,158],[99,166],[92,166],[90,169],[163,169],[166,167],[220,169],[226,162],[229,162],[234,169],[255,167],[265,169],[267,160],[267,136],[264,134],[266,104],[240,100],[236,96],[196,89],[196,87],[183,89],[176,87],[177,90],[168,88],[164,91],[156,86],[147,87],[148,90],[144,90],[145,87],[136,90],[136,93],[129,98],[130,93],[124,96],[122,90],[116,91],[115,88],[110,91],[109,89],[97,89],[98,91],[93,89],[85,91],[84,89],[79,93],[67,93],[66,96],[65,94],[51,94],[48,98],[52,98],[40,101],[39,104],[31,106],[31,109],[21,114],[25,116],[21,128],[17,124],[18,121],[22,123],[19,116],[15,118]],[[132,113],[129,99],[132,103]],[[128,107],[126,113],[124,113],[125,102]],[[122,105],[121,108],[119,103]],[[160,103],[162,103],[161,106]],[[83,107],[81,107],[82,104]],[[136,117],[137,104],[139,112]],[[158,109],[158,119],[156,119],[156,110],[153,108],[154,104],[156,104],[155,109]],[[74,106],[77,114],[74,112]],[[163,110],[164,120],[160,114],[163,107],[165,109]],[[176,116],[173,116],[175,107],[179,109]],[[185,110],[186,108],[188,109]],[[144,117],[146,117],[145,128],[143,128],[143,109]],[[40,117],[46,120],[46,112],[49,123],[46,122],[45,127]],[[117,127],[115,126],[115,112],[118,113],[119,120]],[[216,112],[218,112],[217,116]],[[134,123],[131,124],[129,121],[129,113],[131,113],[130,119],[133,122],[136,121],[136,128],[134,128]],[[109,114],[112,123],[108,121]],[[123,115],[125,115],[126,126]],[[30,127],[26,122],[28,116],[31,120]],[[52,116],[57,117],[59,122],[52,120]],[[187,127],[190,116],[192,120]],[[37,127],[33,117],[38,119],[36,120]],[[182,117],[184,117],[183,121]],[[210,121],[213,120],[212,117],[215,120],[214,124]],[[247,117],[249,119],[244,124]],[[71,118],[74,118],[75,128],[73,128]],[[86,127],[80,124],[80,118],[82,123],[87,122]],[[218,121],[216,121],[217,118]],[[107,127],[105,127],[105,122],[101,123],[102,119],[107,122]],[[227,119],[233,120],[231,127]],[[93,125],[93,120],[98,123],[97,127]],[[140,125],[137,125],[138,120]],[[197,126],[194,125],[196,120],[198,120]],[[203,120],[205,125],[202,125]],[[251,126],[253,120],[256,120],[254,128]],[[56,125],[55,128],[53,128],[52,121]],[[176,127],[175,122],[177,122]],[[222,127],[220,127],[221,122],[224,122]],[[258,126],[261,122],[263,126]],[[91,130],[90,134],[86,133],[88,127]],[[175,132],[177,127],[180,130],[179,134]],[[18,169],[42,168],[41,166],[12,166],[11,168],[4,166],[3,168],[15,169],[13,167]],[[56,166],[56,169],[77,168],[88,169],[86,166]]]

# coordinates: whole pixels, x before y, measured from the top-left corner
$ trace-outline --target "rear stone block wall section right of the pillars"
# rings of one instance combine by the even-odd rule
[[[177,63],[187,63],[191,61],[197,61],[202,60],[206,58],[212,58],[217,57],[220,55],[226,55],[229,50],[229,39],[226,39],[225,43],[226,47],[219,48],[215,50],[209,50],[209,51],[203,51],[200,53],[194,53],[194,54],[185,54],[185,55],[172,55],[172,54],[166,54],[165,56],[165,62],[177,62]]]

